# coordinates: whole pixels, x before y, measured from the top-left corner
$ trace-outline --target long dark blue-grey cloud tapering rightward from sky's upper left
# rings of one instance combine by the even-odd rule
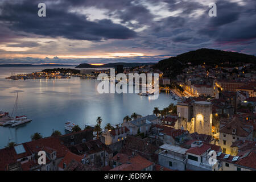
[[[38,3],[24,1],[23,3],[2,5],[0,20],[14,31],[30,32],[37,35],[63,37],[78,40],[129,39],[136,33],[121,24],[102,19],[98,22],[86,20],[84,15],[68,13],[61,6],[47,6],[47,16],[39,18]]]

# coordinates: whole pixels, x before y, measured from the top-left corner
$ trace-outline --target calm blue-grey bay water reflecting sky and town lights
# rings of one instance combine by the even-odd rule
[[[11,142],[23,143],[31,134],[41,133],[44,137],[52,130],[64,134],[64,122],[68,119],[80,125],[95,125],[100,116],[102,126],[106,123],[122,123],[125,115],[152,114],[154,107],[167,107],[172,100],[168,92],[161,92],[158,100],[148,100],[138,94],[99,94],[97,80],[52,79],[52,80],[7,80],[11,73],[31,73],[43,67],[0,67],[0,110],[11,111],[16,91],[19,90],[18,110],[15,115],[27,115],[32,122],[16,128],[0,127],[0,148]]]

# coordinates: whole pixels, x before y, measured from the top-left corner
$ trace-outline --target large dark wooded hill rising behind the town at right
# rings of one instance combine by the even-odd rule
[[[164,59],[155,64],[155,68],[166,73],[166,76],[176,77],[182,69],[189,65],[204,64],[208,67],[216,65],[222,67],[237,67],[244,63],[256,63],[256,57],[238,52],[220,51],[216,49],[201,48]]]

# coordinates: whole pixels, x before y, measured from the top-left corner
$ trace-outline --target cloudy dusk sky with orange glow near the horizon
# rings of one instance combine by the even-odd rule
[[[146,63],[200,48],[256,55],[256,1],[0,0],[0,64]]]

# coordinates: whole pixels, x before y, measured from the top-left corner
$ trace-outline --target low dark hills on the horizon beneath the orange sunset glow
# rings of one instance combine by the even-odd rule
[[[143,65],[152,65],[155,63],[107,63],[103,65],[92,65],[88,63],[82,63],[78,65],[76,68],[114,68],[115,65],[123,65],[125,68],[131,68],[131,67],[141,67]]]

